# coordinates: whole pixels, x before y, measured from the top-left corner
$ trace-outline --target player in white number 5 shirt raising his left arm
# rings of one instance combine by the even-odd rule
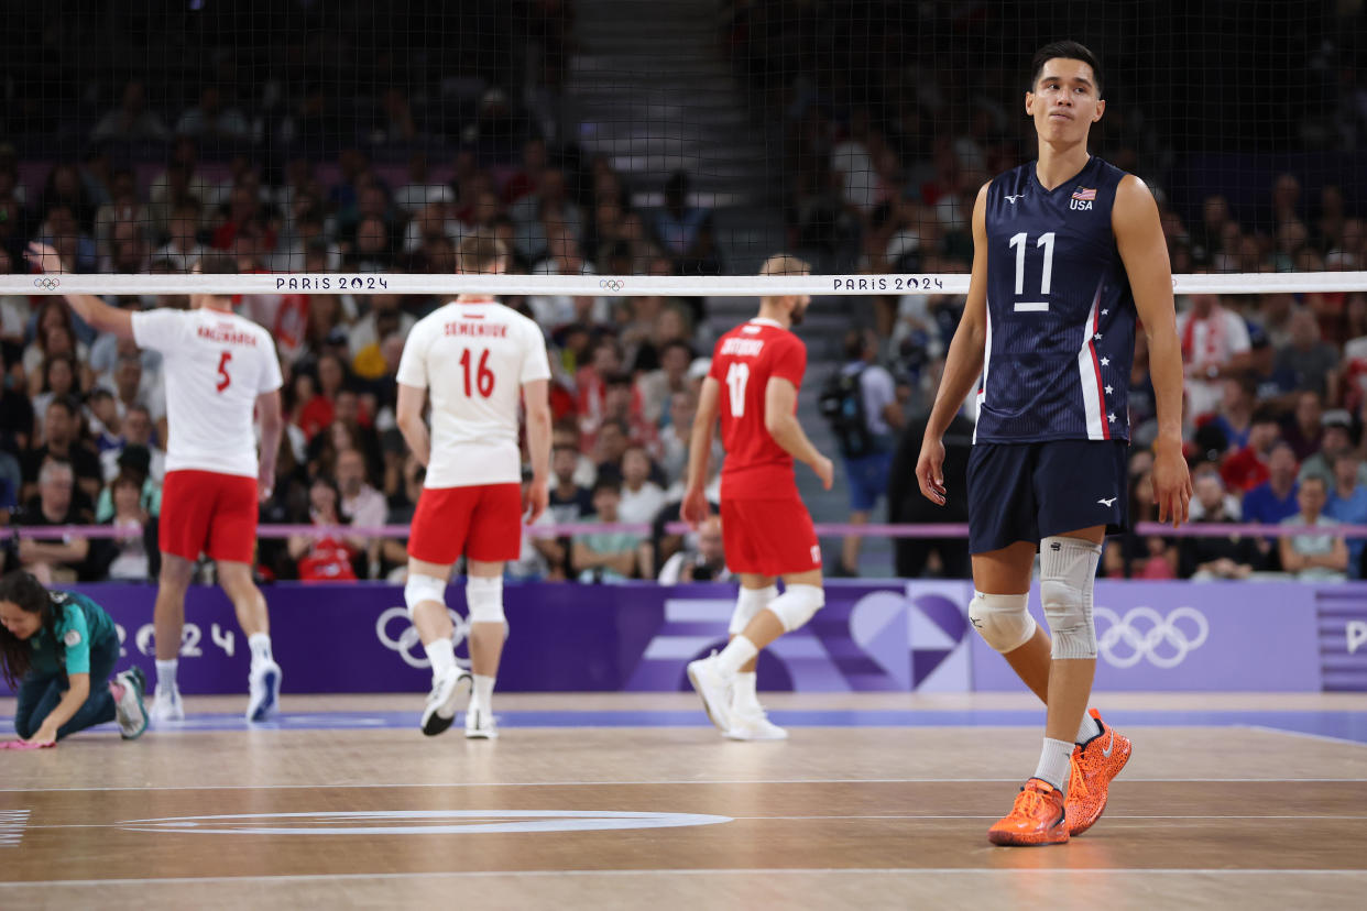
[[[31,244],[44,272],[60,272],[52,247]],[[201,257],[195,272],[236,275],[228,255]],[[167,473],[161,486],[161,574],[153,611],[157,686],[152,721],[185,718],[176,687],[176,656],[185,626],[185,594],[194,561],[208,555],[252,650],[247,720],[261,721],[280,703],[280,665],[271,653],[271,619],[252,579],[257,501],[271,494],[280,447],[280,362],[275,340],[232,313],[224,294],[191,294],[190,310],[130,313],[93,295],[68,294],[71,307],[100,332],[161,352],[165,376]],[[261,423],[261,456],[253,433]]]

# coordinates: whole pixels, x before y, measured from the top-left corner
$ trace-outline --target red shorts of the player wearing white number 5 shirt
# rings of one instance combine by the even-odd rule
[[[205,553],[211,560],[250,564],[256,522],[256,478],[194,468],[167,471],[157,530],[161,553],[191,563]]]

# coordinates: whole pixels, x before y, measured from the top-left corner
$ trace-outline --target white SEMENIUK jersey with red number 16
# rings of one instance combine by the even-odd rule
[[[519,482],[522,384],[550,378],[541,329],[502,303],[451,302],[418,320],[398,381],[432,393],[432,459],[422,486]]]

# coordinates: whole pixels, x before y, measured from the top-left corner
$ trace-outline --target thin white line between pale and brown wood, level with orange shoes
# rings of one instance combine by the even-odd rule
[[[0,794],[62,794],[104,791],[351,791],[369,788],[640,788],[652,785],[696,784],[1020,784],[1020,779],[664,779],[659,781],[420,781],[329,784],[149,784],[109,785],[104,788],[0,788]],[[1146,784],[1364,784],[1367,779],[1136,779],[1126,783]]]

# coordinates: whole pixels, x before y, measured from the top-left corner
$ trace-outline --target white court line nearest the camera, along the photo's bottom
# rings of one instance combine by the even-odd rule
[[[487,880],[491,877],[670,877],[670,875],[1349,875],[1367,877],[1367,870],[1308,870],[1308,869],[1251,869],[1232,870],[1229,867],[750,867],[750,869],[688,869],[688,870],[432,870],[421,873],[293,873],[282,875],[241,875],[241,877],[145,877],[127,880],[34,880],[30,882],[0,882],[0,889],[52,886],[111,886],[111,885],[185,885],[185,884],[231,884],[231,882],[335,882],[357,880]]]

